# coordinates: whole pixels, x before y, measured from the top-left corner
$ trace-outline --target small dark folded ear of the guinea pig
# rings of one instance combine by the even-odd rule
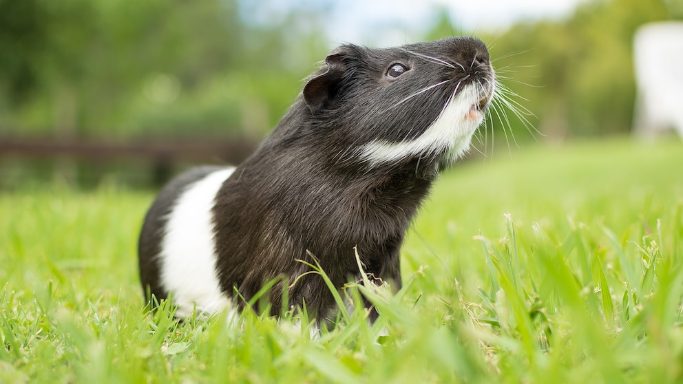
[[[344,56],[349,53],[349,47],[342,45],[333,50],[325,58],[327,70],[314,76],[304,85],[304,101],[312,113],[328,107],[337,94],[339,81],[346,72]]]

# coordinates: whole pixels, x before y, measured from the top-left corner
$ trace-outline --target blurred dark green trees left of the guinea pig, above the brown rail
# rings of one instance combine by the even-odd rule
[[[316,32],[250,24],[236,0],[0,0],[0,135],[262,136]]]

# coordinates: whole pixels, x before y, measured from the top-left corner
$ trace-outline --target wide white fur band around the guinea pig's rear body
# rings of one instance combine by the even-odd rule
[[[231,306],[220,290],[213,241],[213,202],[234,168],[209,173],[187,186],[167,217],[158,256],[161,281],[178,305],[176,315],[216,313]]]

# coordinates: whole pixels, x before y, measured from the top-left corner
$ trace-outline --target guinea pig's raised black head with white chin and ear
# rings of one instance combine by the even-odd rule
[[[470,147],[496,87],[486,46],[472,37],[342,45],[325,63],[304,86],[304,102],[312,119],[335,130],[328,133],[342,146],[337,160],[370,166],[452,162]]]

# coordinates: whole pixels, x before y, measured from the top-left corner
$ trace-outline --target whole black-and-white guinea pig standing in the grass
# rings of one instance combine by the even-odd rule
[[[305,306],[322,321],[338,308],[308,264],[339,289],[361,276],[356,252],[371,281],[401,288],[406,230],[495,92],[473,37],[338,47],[242,164],[192,169],[162,189],[140,233],[143,288],[171,295],[182,318],[244,308],[281,278],[271,313]]]

